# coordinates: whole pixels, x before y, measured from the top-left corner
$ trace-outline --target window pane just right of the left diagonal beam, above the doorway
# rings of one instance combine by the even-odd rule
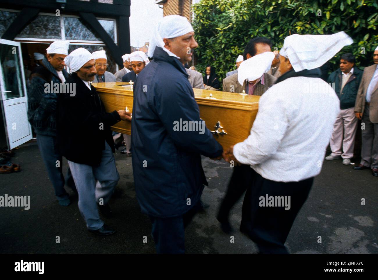
[[[60,34],[60,17],[38,15],[19,35],[22,38],[62,39]]]

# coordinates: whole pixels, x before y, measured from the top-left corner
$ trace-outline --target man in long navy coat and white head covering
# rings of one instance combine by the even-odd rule
[[[151,219],[158,253],[184,253],[184,228],[200,208],[208,184],[201,154],[220,159],[223,151],[200,119],[183,66],[192,60],[191,49],[197,46],[185,17],[162,18],[150,40],[153,61],[134,86],[131,137],[136,197]],[[180,121],[198,123],[197,131],[180,127]]]

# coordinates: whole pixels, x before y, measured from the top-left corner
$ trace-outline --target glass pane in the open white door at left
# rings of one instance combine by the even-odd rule
[[[21,69],[19,52],[20,49],[17,48],[14,53],[13,48],[16,46],[0,44],[0,61],[2,66],[4,88],[5,88],[5,98],[11,99],[16,97],[23,97],[25,94],[23,92]]]

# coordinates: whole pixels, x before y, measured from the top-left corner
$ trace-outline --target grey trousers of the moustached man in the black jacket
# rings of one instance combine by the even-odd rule
[[[112,149],[105,141],[99,166],[90,166],[68,161],[79,194],[79,210],[87,223],[87,228],[96,230],[104,225],[100,219],[97,203],[104,205],[110,200],[118,183],[119,174]],[[102,199],[102,200],[101,200]]]

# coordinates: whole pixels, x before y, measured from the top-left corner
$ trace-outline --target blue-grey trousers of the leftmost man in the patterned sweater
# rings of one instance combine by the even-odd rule
[[[70,168],[67,170],[66,180],[62,173],[62,155],[56,147],[56,137],[37,134],[37,144],[41,152],[43,162],[47,169],[47,174],[53,184],[55,195],[58,200],[68,198],[68,193],[64,189],[64,185],[69,186],[76,192],[75,183],[73,181]]]

